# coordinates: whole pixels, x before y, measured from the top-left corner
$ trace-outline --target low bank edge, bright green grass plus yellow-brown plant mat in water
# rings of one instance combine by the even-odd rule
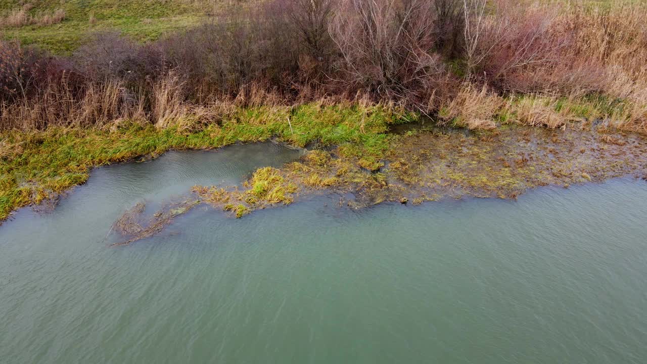
[[[19,207],[55,201],[84,183],[94,166],[272,138],[311,151],[281,168],[259,169],[242,188],[196,186],[197,198],[242,217],[303,194],[351,192],[355,198],[340,203],[358,207],[417,204],[462,196],[516,198],[543,185],[647,176],[644,137],[609,125],[566,119],[549,129],[510,119],[496,129],[470,131],[427,120],[404,133],[389,132],[417,120],[419,115],[393,105],[313,103],[238,108],[220,122],[184,120],[168,128],[122,122],[104,129],[6,132],[0,139],[0,219]]]

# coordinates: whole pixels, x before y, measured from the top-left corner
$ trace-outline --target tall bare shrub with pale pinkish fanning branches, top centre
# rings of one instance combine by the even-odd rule
[[[422,99],[419,86],[444,74],[432,2],[342,0],[336,14],[331,35],[342,54],[338,81],[345,87]]]

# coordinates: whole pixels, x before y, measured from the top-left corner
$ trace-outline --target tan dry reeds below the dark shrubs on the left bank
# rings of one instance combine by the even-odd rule
[[[150,122],[157,128],[177,126],[192,130],[197,123],[219,120],[233,104],[197,106],[184,100],[181,81],[170,73],[137,91],[124,82],[108,80],[83,85],[83,97],[74,97],[65,79],[52,82],[36,97],[0,104],[0,130],[43,130],[49,126],[79,128],[112,126],[121,122]]]

